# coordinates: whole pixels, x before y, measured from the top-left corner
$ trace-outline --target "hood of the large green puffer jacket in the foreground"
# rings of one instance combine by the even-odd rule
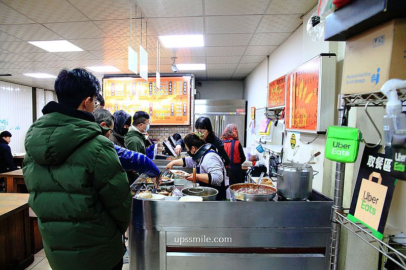
[[[102,134],[93,114],[55,101],[42,109],[44,116],[31,125],[25,136],[25,151],[41,165],[63,163],[85,142]]]

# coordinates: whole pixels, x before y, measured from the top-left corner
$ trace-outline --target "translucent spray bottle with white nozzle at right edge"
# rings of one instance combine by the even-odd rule
[[[397,90],[406,88],[406,80],[391,79],[382,87],[381,92],[388,98],[386,114],[384,115],[385,145],[391,146],[392,137],[396,131],[406,130],[406,115],[402,113],[402,102],[397,99]]]

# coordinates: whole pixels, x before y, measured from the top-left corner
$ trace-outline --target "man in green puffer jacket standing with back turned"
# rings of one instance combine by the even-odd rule
[[[123,264],[131,193],[113,143],[91,113],[99,89],[85,69],[62,70],[55,81],[59,103],[49,102],[25,137],[28,204],[57,270]]]

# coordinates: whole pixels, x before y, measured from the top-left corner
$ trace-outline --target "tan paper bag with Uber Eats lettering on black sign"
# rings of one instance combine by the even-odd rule
[[[378,178],[378,183],[372,181],[373,177]],[[369,179],[362,178],[354,213],[354,217],[376,230],[378,230],[388,190],[388,187],[381,183],[382,176],[377,172],[371,173]]]

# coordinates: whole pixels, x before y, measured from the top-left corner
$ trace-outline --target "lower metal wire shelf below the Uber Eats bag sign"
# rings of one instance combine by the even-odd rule
[[[398,243],[393,242],[393,236],[385,236],[384,241],[379,240],[371,234],[371,230],[359,222],[352,222],[343,211],[335,211],[335,221],[346,227],[350,232],[361,238],[365,243],[381,252],[388,259],[406,269],[406,249],[399,248]],[[399,238],[396,238],[399,239]],[[401,253],[400,251],[403,251]]]

